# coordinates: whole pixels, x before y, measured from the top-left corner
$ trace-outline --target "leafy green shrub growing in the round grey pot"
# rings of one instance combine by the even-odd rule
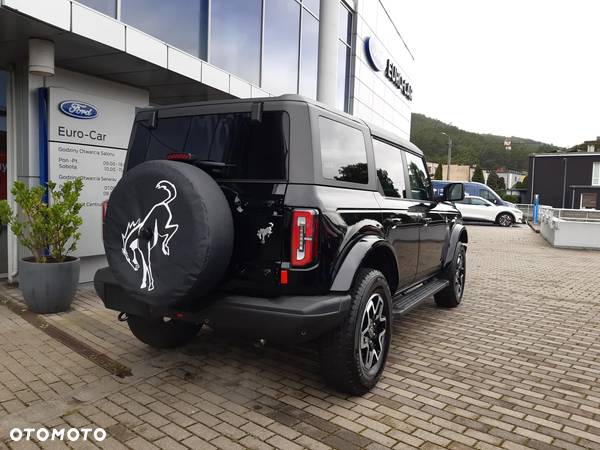
[[[0,202],[0,222],[9,225],[23,246],[27,247],[36,262],[63,262],[77,249],[81,237],[78,231],[83,223],[79,212],[79,196],[83,188],[80,178],[67,181],[57,188],[48,182],[50,202],[44,202],[43,186],[29,188],[15,181],[11,193],[20,211],[16,213],[6,200]],[[49,253],[49,256],[47,256]]]

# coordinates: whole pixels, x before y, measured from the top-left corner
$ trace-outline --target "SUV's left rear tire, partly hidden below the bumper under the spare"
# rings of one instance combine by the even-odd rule
[[[154,348],[175,348],[196,337],[202,324],[177,319],[128,316],[127,325],[133,335]]]

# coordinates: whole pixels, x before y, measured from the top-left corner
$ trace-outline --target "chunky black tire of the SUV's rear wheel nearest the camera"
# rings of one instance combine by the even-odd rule
[[[362,395],[377,384],[385,367],[392,337],[392,296],[383,274],[373,269],[360,269],[351,295],[346,320],[321,339],[321,372],[331,387]],[[371,317],[373,327],[365,327]],[[361,330],[366,332],[361,333]],[[383,339],[378,339],[381,331],[384,331]],[[362,334],[366,339],[361,349]],[[378,358],[370,353],[371,349],[379,350]],[[370,367],[369,354],[373,355]]]

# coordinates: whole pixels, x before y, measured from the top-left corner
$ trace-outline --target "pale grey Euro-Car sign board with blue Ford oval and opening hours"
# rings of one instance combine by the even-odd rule
[[[49,88],[48,105],[48,178],[83,181],[75,255],[102,255],[102,202],[121,178],[135,106],[58,87]]]

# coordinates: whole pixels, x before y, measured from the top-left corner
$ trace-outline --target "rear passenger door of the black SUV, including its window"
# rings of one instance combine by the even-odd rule
[[[414,202],[407,199],[402,150],[373,139],[377,168],[377,201],[381,206],[385,235],[394,248],[399,271],[398,288],[412,284],[419,261],[420,212],[411,211]]]

